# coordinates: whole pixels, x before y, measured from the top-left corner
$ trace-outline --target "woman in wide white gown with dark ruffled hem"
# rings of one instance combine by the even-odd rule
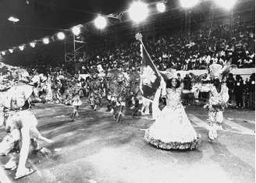
[[[155,123],[145,130],[146,142],[163,150],[194,150],[201,143],[200,135],[195,132],[181,104],[181,93],[192,91],[183,90],[176,73],[172,72],[166,90],[162,91],[162,96],[166,95],[166,106]]]

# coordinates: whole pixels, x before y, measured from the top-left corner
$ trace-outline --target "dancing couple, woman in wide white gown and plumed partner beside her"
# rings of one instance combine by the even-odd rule
[[[229,93],[224,80],[232,65],[225,67],[212,64],[209,67],[211,83],[197,84],[192,90],[184,90],[183,83],[176,78],[174,70],[169,69],[166,86],[162,87],[162,97],[166,105],[159,111],[155,123],[145,130],[144,139],[152,145],[164,150],[194,150],[201,145],[201,135],[197,135],[181,103],[182,93],[195,91],[209,92],[208,110],[208,139],[217,139],[217,131],[222,129],[223,111],[229,100]]]

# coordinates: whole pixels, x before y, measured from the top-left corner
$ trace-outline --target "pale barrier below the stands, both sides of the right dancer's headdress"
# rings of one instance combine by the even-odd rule
[[[177,71],[177,73],[180,73],[181,78],[184,78],[185,75],[189,74],[190,72],[192,72],[196,76],[199,76],[201,74],[208,73],[208,70],[204,69],[204,70]],[[233,69],[231,73],[233,73],[234,76],[240,75],[243,77],[244,80],[246,80],[246,79],[250,79],[250,76],[252,73],[255,73],[255,69],[254,68]]]

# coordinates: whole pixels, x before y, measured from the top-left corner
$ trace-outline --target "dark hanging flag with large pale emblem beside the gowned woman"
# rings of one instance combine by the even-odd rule
[[[143,97],[154,100],[155,93],[160,86],[161,78],[158,74],[158,70],[148,55],[148,51],[143,44],[141,44],[141,47],[142,65],[140,73],[140,90],[143,92]]]

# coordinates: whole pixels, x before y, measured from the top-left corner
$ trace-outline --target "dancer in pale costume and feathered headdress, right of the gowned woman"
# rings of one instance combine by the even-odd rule
[[[209,66],[209,77],[212,79],[212,84],[195,86],[195,89],[201,92],[210,93],[208,103],[204,108],[208,110],[208,138],[211,141],[217,138],[217,130],[222,129],[223,111],[229,100],[229,89],[223,81],[230,70],[235,67],[235,65],[231,65],[230,61],[224,67],[214,63]]]

